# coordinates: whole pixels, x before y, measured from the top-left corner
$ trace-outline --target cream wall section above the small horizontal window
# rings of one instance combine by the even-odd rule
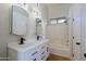
[[[48,18],[67,16],[70,3],[51,3],[48,4]]]

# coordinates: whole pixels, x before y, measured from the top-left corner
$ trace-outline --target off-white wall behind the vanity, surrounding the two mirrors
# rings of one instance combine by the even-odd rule
[[[4,57],[8,57],[8,49],[7,46],[9,42],[19,42],[20,36],[15,36],[10,34],[10,8],[12,4],[9,3],[1,3],[0,4],[0,60],[3,60]],[[35,4],[29,4],[28,10]],[[42,8],[41,8],[42,10]],[[45,15],[45,8],[42,10],[42,17]],[[26,39],[36,39],[36,22],[33,16],[32,10],[28,11],[29,14],[29,21],[28,21],[28,28],[27,28],[27,35],[24,36]],[[45,17],[44,17],[45,18]],[[3,57],[3,59],[1,59]]]

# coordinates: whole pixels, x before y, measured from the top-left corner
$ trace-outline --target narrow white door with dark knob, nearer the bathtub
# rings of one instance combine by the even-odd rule
[[[81,5],[73,7],[73,60],[81,60]]]

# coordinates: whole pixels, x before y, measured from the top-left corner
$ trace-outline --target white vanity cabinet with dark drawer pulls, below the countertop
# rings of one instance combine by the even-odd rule
[[[35,42],[36,44],[28,46],[26,49],[14,49],[9,44],[10,61],[46,61],[49,51],[47,42]],[[27,43],[29,44],[29,43]]]

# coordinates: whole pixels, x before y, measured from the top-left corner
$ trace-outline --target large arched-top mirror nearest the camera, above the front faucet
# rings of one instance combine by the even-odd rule
[[[28,13],[21,7],[12,5],[12,34],[26,35]]]

